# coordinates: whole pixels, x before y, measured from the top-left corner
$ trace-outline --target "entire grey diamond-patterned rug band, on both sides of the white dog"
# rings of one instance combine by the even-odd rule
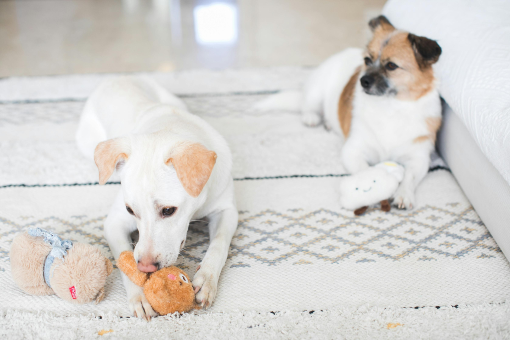
[[[490,258],[500,254],[490,233],[472,212],[471,206],[445,210],[429,205],[409,213],[383,213],[370,208],[362,217],[326,209],[311,212],[300,208],[286,212],[264,210],[253,215],[241,211],[227,265],[232,268],[250,267],[254,263],[278,266],[286,261],[293,264],[366,263],[432,260],[438,256]],[[63,238],[95,245],[113,260],[103,237],[105,218],[22,216],[19,221],[13,221],[0,217],[0,259],[8,260],[10,243],[19,232],[41,227],[56,231]],[[185,270],[195,269],[208,245],[206,224],[193,222],[179,266]],[[423,257],[421,251],[427,255]]]

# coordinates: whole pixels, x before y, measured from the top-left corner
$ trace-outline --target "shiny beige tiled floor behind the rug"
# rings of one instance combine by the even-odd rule
[[[0,1],[0,76],[316,65],[384,0]]]

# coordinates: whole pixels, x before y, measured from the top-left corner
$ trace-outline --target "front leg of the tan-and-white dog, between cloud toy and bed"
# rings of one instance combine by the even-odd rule
[[[430,151],[420,150],[397,160],[405,168],[404,178],[397,188],[393,202],[399,209],[412,209],[415,205],[415,190],[428,172]]]

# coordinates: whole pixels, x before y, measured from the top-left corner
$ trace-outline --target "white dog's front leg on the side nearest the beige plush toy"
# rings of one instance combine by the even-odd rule
[[[124,250],[133,250],[131,233],[135,230],[136,222],[127,213],[122,191],[120,191],[105,221],[105,238],[115,259]],[[133,283],[124,273],[120,273],[120,275],[122,276],[122,282],[127,293],[127,301],[133,315],[147,321],[152,317],[156,317],[158,313],[152,309],[145,298],[142,287]]]

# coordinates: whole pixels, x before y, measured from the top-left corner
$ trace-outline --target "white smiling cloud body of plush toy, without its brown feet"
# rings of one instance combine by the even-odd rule
[[[398,187],[398,180],[382,168],[371,167],[361,173],[342,177],[340,204],[350,210],[388,199]]]

